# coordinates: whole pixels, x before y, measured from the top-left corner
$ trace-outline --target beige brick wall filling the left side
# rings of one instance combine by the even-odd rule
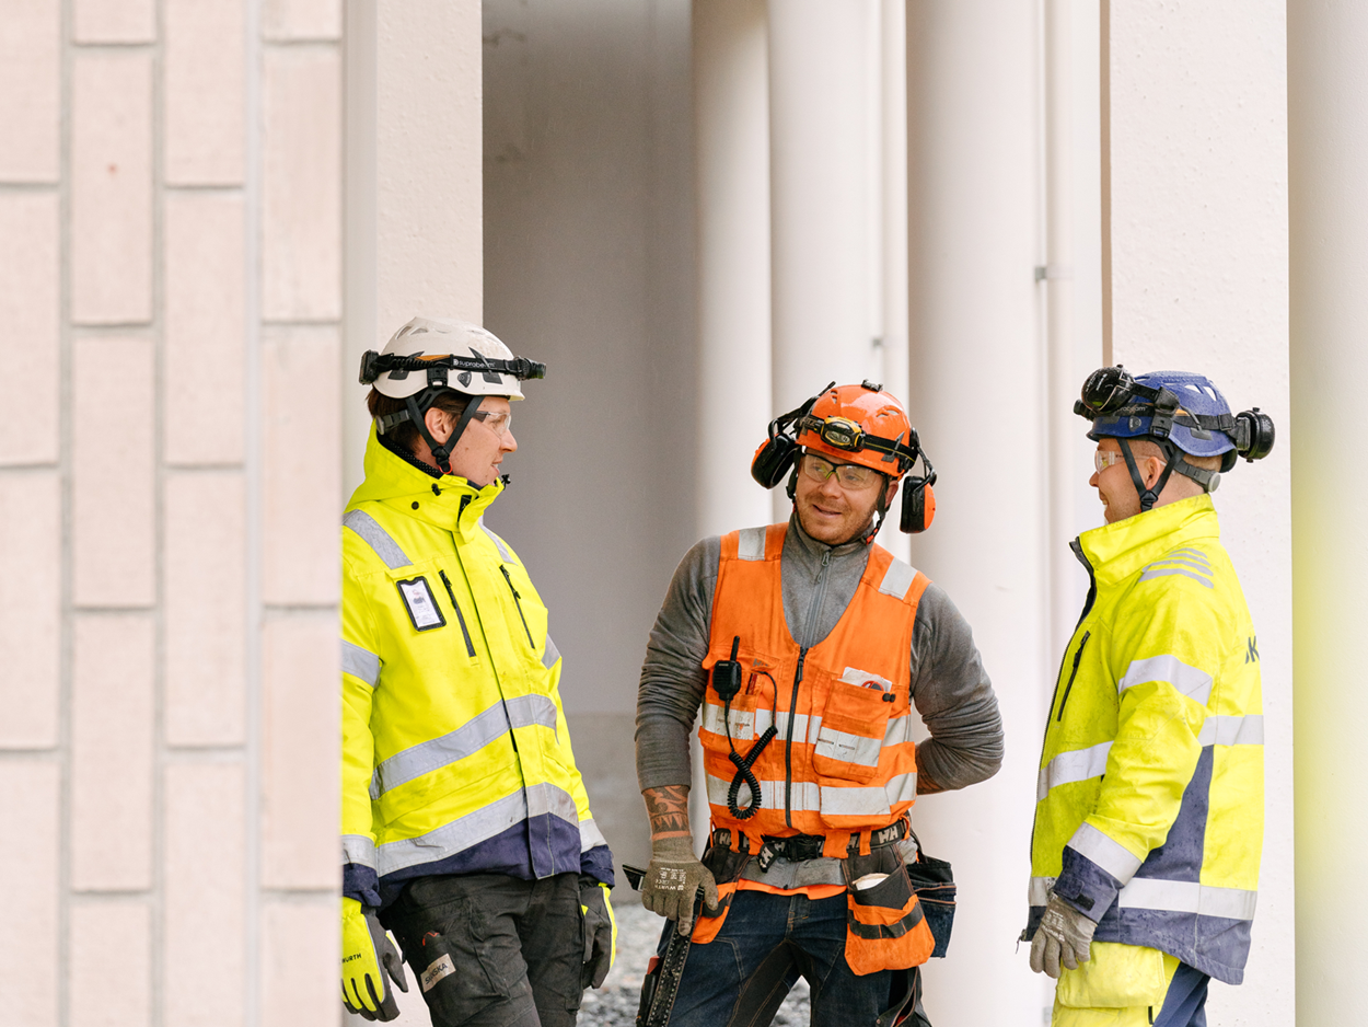
[[[0,19],[3,1023],[337,1022],[341,34]]]

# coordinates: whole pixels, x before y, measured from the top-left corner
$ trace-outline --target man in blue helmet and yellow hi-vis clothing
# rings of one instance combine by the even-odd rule
[[[1055,1027],[1204,1027],[1244,979],[1264,830],[1259,639],[1211,493],[1274,444],[1200,374],[1089,375],[1107,523],[1060,664],[1031,835],[1030,965]]]

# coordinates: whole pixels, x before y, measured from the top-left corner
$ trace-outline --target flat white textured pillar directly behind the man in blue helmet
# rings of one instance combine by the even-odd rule
[[[1285,1024],[1294,1015],[1287,972],[1295,931],[1285,11],[1282,0],[1114,3],[1109,40],[1104,41],[1109,66],[1109,103],[1103,114],[1108,119],[1104,138],[1109,137],[1114,356],[1137,371],[1176,367],[1208,374],[1237,411],[1259,405],[1272,415],[1279,431],[1272,455],[1259,464],[1239,464],[1215,497],[1222,541],[1259,630],[1267,826],[1245,985],[1234,990],[1212,986],[1208,1017],[1213,1024]],[[1347,42],[1338,30],[1334,41],[1335,48]],[[1316,60],[1321,59],[1317,53]],[[1345,60],[1349,68],[1349,58]],[[1342,82],[1320,81],[1332,81],[1331,89]],[[1354,179],[1350,174],[1342,181]],[[1352,227],[1343,223],[1353,204],[1330,203],[1316,210],[1334,211],[1321,222],[1324,230],[1347,229],[1341,238],[1353,238]],[[1330,257],[1317,268],[1339,272],[1341,251],[1319,252]],[[1353,294],[1354,279],[1339,281],[1347,293],[1338,293],[1327,281],[1327,292],[1316,296]],[[1332,381],[1349,379],[1345,370],[1335,367],[1332,375],[1317,378],[1317,385],[1326,381],[1332,388]],[[1341,409],[1324,398],[1316,403],[1321,409]],[[1331,475],[1331,481],[1339,477]],[[1352,563],[1346,553],[1353,549],[1326,541],[1327,535],[1317,537],[1317,544],[1334,553],[1337,570],[1347,571]],[[1346,620],[1346,627],[1350,623]],[[1349,627],[1345,637],[1354,630]],[[1339,686],[1343,678],[1334,681],[1331,718],[1335,724],[1353,723],[1346,716],[1350,711],[1338,702],[1345,694]],[[1320,752],[1332,753],[1337,775],[1343,772],[1341,760],[1356,748],[1352,735],[1343,737],[1345,746],[1328,744],[1327,737],[1316,741]],[[1350,860],[1358,856],[1357,849],[1345,852],[1353,853]],[[1337,875],[1343,871],[1339,863],[1331,865]],[[1337,912],[1353,901],[1346,896],[1335,889],[1330,901]],[[1309,941],[1316,937],[1312,931]]]

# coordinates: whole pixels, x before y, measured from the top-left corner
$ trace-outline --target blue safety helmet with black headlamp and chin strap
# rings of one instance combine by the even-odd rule
[[[1272,418],[1259,407],[1231,414],[1220,389],[1205,375],[1190,371],[1150,371],[1131,377],[1120,364],[1100,367],[1083,382],[1074,414],[1092,422],[1088,437],[1094,442],[1120,441],[1142,511],[1155,505],[1174,471],[1215,492],[1222,472],[1231,470],[1237,457],[1260,460],[1274,448]],[[1164,453],[1164,471],[1152,487],[1146,489],[1141,481],[1126,442],[1131,438],[1155,442]],[[1194,467],[1183,453],[1220,456],[1220,471]]]

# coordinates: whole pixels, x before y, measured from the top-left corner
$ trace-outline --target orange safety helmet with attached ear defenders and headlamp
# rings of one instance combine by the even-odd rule
[[[785,474],[792,472],[788,481],[792,498],[796,463],[803,449],[869,467],[892,481],[902,479],[921,459],[925,472],[907,479],[899,527],[908,534],[930,527],[936,516],[932,493],[936,470],[922,452],[917,429],[907,419],[903,404],[884,392],[882,385],[866,381],[837,386],[832,382],[798,409],[774,418],[769,438],[761,442],[751,460],[751,477],[763,487],[773,489]],[[880,507],[878,523],[882,519]],[[874,531],[878,531],[878,524]]]

